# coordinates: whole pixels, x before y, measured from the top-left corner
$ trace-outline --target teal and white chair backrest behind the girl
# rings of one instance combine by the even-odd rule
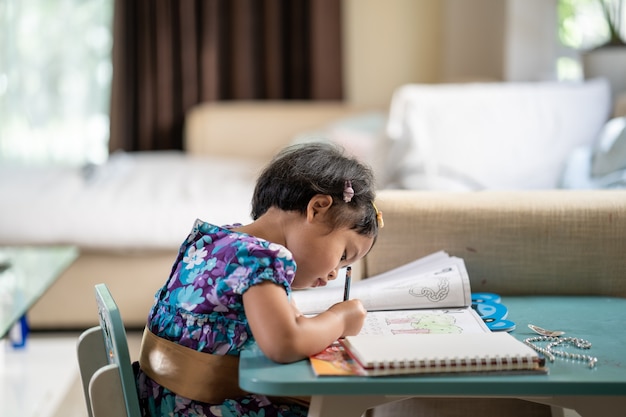
[[[84,331],[77,354],[90,417],[140,417],[126,329],[107,286],[95,287],[100,326]]]

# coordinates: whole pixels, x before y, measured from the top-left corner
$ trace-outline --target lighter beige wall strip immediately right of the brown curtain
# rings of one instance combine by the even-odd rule
[[[350,103],[386,108],[403,84],[438,81],[440,0],[343,0]]]

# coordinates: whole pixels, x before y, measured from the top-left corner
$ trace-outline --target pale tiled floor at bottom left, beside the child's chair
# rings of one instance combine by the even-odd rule
[[[79,333],[33,333],[23,349],[0,341],[0,415],[87,417],[76,341]],[[141,335],[129,332],[131,359]]]

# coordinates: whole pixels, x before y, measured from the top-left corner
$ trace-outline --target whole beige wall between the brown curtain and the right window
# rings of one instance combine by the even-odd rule
[[[557,0],[343,0],[346,100],[408,83],[553,79]]]

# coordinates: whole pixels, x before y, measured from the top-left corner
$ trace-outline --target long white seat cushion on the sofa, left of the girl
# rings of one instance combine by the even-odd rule
[[[0,166],[0,245],[177,249],[201,218],[247,223],[257,163],[181,152],[115,154],[87,171]]]

